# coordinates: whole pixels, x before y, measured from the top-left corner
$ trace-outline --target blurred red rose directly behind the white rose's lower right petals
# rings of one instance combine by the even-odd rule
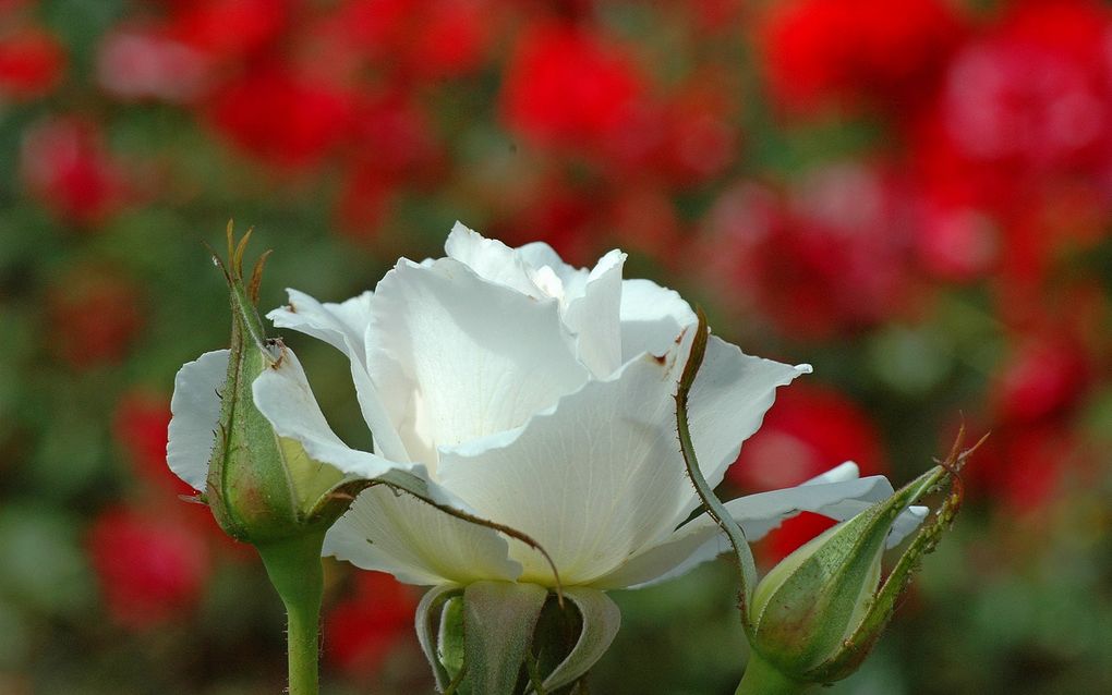
[[[796,383],[776,393],[764,424],[742,446],[726,478],[745,493],[757,493],[793,487],[846,460],[856,461],[862,475],[886,471],[876,427],[838,391]],[[762,540],[758,553],[778,562],[833,525],[817,514],[801,514]]]

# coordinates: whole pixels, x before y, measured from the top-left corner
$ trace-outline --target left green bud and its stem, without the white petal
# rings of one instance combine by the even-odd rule
[[[287,359],[280,340],[267,338],[256,310],[265,254],[249,281],[242,271],[250,231],[235,242],[228,225],[228,262],[217,260],[228,280],[231,346],[221,389],[218,437],[205,495],[220,527],[259,552],[286,607],[289,694],[319,692],[321,548],[325,532],[347,508],[330,489],[339,471],[312,465],[296,441],[279,437],[252,397],[256,378]]]

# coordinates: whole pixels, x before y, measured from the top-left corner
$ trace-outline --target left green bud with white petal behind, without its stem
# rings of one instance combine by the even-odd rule
[[[250,232],[234,245],[229,225],[229,258],[227,264],[216,259],[228,280],[231,345],[179,373],[178,421],[171,423],[168,460],[187,483],[205,490],[201,498],[225,533],[258,546],[309,532],[324,534],[349,499],[334,494],[344,474],[314,461],[295,439],[280,437],[256,406],[254,387],[259,376],[297,358],[262,329],[256,302],[266,256],[245,281],[242,256],[249,237]],[[203,411],[217,407],[216,403],[207,405],[214,391],[219,397],[219,417],[212,413],[211,448],[202,463],[198,449],[205,446],[205,437],[193,437],[191,430],[206,428]]]

